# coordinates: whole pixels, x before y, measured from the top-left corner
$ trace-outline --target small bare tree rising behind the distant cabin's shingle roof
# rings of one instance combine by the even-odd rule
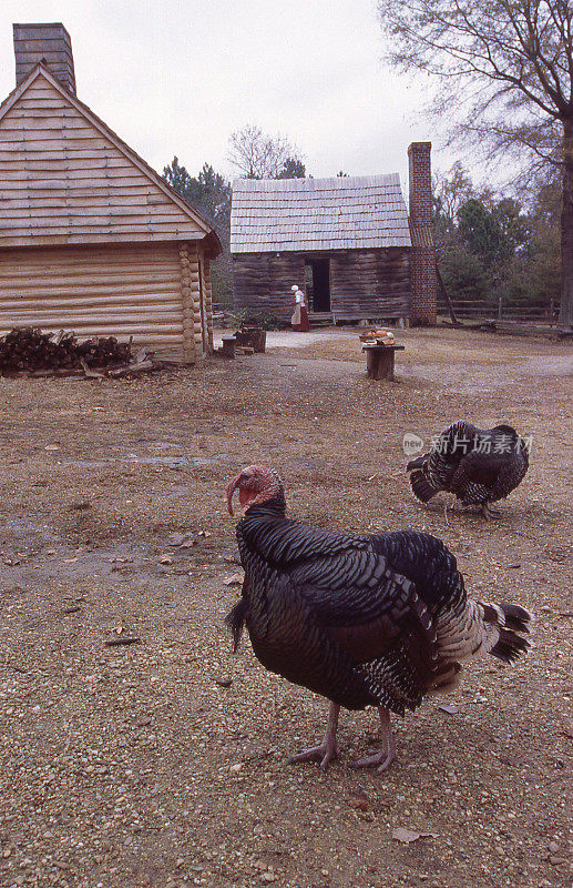
[[[266,135],[249,124],[231,133],[227,160],[245,179],[301,179],[305,164],[284,135]]]

